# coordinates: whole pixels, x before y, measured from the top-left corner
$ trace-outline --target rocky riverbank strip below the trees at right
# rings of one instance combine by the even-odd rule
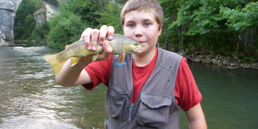
[[[224,68],[244,68],[258,70],[258,61],[234,59],[229,55],[210,55],[208,53],[198,53],[187,55],[186,58],[198,63],[217,64]]]

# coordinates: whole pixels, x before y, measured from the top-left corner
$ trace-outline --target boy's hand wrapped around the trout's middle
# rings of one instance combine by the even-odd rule
[[[103,52],[99,54],[97,61],[107,60],[112,52],[112,48],[109,43],[105,41],[106,37],[108,40],[112,40],[114,36],[115,29],[112,26],[107,27],[103,25],[100,30],[87,28],[82,33],[80,40],[84,39],[86,48],[88,50],[96,51],[97,44],[103,45]]]

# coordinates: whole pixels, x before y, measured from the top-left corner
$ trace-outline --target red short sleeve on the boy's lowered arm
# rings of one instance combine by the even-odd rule
[[[175,98],[181,109],[185,111],[198,104],[202,99],[185,58],[182,58],[177,72]]]

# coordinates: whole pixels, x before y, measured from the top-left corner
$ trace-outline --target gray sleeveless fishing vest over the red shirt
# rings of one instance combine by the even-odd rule
[[[109,119],[105,120],[105,128],[179,128],[174,88],[181,59],[176,53],[158,48],[156,66],[132,104],[132,55],[126,54],[122,64],[114,55],[106,96]]]

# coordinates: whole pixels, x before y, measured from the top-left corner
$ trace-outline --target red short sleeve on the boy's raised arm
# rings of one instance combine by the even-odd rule
[[[92,80],[92,83],[82,85],[86,90],[92,90],[100,83],[108,86],[112,59],[110,55],[108,60],[91,62],[84,68]]]

